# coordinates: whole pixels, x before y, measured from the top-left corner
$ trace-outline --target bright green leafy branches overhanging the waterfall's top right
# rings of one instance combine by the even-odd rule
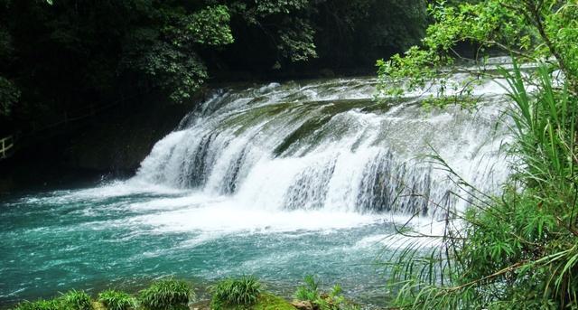
[[[428,12],[435,23],[427,28],[421,46],[378,61],[381,96],[397,96],[405,89],[423,89],[430,83],[442,86],[437,97],[446,96],[447,89],[460,90],[459,96],[470,95],[479,82],[476,75],[488,72],[474,73],[474,78],[462,82],[448,79],[455,73],[448,66],[462,58],[456,46],[463,42],[477,46],[472,57],[480,65],[486,63],[489,49],[508,52],[520,61],[554,60],[551,64],[564,72],[570,88],[576,90],[578,52],[569,43],[578,40],[578,7],[573,1],[485,0],[453,5],[436,1]],[[452,102],[425,102],[435,101],[440,106]]]

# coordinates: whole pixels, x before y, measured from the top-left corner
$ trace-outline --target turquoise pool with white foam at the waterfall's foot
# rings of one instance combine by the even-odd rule
[[[315,274],[360,299],[384,294],[376,265],[391,232],[384,218],[235,211],[193,192],[139,190],[113,183],[4,199],[0,304],[70,288],[131,290],[168,275],[202,286],[254,274],[287,295]]]

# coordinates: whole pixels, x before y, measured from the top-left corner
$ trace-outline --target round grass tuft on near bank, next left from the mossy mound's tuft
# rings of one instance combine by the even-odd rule
[[[169,309],[178,305],[186,305],[194,295],[191,286],[182,280],[172,278],[154,282],[151,287],[139,294],[140,304],[147,309]]]

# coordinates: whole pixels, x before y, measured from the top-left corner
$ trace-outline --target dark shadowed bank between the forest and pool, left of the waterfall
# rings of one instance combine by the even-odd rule
[[[12,157],[0,161],[0,195],[134,175],[154,144],[203,96],[179,105],[151,96],[28,137]]]

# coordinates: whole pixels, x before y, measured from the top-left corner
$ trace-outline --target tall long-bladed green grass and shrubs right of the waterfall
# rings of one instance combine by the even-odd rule
[[[424,236],[439,246],[410,240],[387,262],[398,308],[578,309],[578,98],[568,85],[555,89],[550,72],[536,71],[530,93],[517,64],[501,70],[513,102],[515,171],[500,196],[480,193],[432,156],[471,205],[446,210],[444,233]]]

